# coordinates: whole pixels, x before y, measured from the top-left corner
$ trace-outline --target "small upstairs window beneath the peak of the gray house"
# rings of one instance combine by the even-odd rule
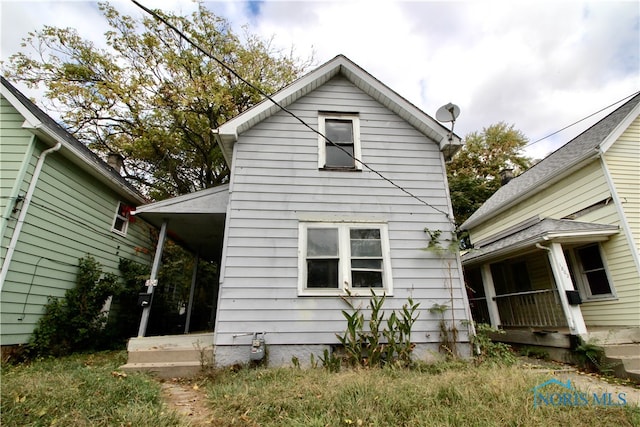
[[[360,119],[357,114],[320,113],[318,130],[318,168],[361,170]]]

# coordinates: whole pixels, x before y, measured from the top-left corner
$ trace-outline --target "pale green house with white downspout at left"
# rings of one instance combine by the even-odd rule
[[[78,259],[106,272],[120,258],[149,264],[145,199],[2,78],[0,98],[1,344],[23,344],[49,296],[75,286]]]

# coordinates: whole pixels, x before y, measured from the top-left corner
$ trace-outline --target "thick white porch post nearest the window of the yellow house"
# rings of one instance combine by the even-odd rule
[[[582,311],[578,305],[569,305],[567,299],[567,292],[572,291],[573,282],[569,275],[569,267],[567,266],[567,260],[562,252],[562,245],[560,243],[551,243],[549,246],[537,245],[539,248],[546,250],[549,253],[549,263],[551,264],[551,270],[553,271],[553,277],[556,281],[556,287],[558,288],[558,296],[560,297],[560,303],[562,304],[562,311],[567,318],[569,324],[569,330],[572,335],[583,335],[587,333],[587,326],[584,324],[584,318],[582,317]]]

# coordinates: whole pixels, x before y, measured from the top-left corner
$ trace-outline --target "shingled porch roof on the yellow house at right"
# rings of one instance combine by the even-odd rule
[[[531,222],[529,223],[531,224]],[[465,265],[476,264],[494,258],[508,256],[537,243],[589,243],[607,240],[618,233],[618,227],[607,224],[578,222],[569,219],[544,218],[533,222],[526,228],[512,234],[487,241],[484,246],[476,247],[462,256]]]

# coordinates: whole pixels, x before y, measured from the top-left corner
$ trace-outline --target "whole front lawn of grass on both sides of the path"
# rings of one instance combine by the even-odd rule
[[[3,366],[1,424],[187,425],[163,405],[157,382],[119,373],[124,358],[100,353]],[[217,426],[640,425],[637,407],[534,408],[532,389],[549,378],[458,363],[339,373],[221,369],[196,382]]]

